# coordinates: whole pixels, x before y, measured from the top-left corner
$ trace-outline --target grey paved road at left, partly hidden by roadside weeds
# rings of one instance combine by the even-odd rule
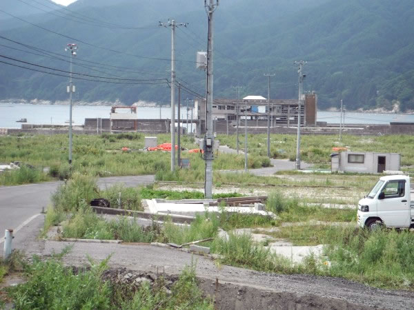
[[[127,187],[154,182],[154,176],[111,176],[99,178],[98,186],[105,189],[114,183],[124,183]],[[0,243],[5,229],[19,229],[22,225],[46,209],[50,203],[50,194],[56,191],[62,182],[0,187]]]

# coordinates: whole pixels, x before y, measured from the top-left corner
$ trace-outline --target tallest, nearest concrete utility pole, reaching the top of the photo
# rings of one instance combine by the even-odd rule
[[[206,161],[206,176],[204,195],[213,198],[213,13],[219,6],[219,0],[204,0],[208,14],[208,51],[207,51],[207,100],[206,100],[206,136],[204,137],[204,160]]]

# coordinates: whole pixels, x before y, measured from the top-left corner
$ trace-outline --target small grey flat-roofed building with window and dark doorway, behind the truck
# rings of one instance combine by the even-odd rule
[[[397,153],[340,152],[331,154],[332,172],[381,174],[385,170],[399,171],[401,155]]]

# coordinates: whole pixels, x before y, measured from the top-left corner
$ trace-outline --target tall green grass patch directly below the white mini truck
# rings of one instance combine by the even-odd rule
[[[330,276],[376,287],[414,290],[414,236],[408,231],[337,229],[326,255]]]

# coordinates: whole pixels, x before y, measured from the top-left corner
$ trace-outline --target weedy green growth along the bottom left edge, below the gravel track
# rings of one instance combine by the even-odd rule
[[[8,289],[8,295],[16,309],[214,309],[197,287],[194,266],[181,272],[168,295],[162,277],[152,287],[121,287],[102,280],[108,259],[90,264],[72,269],[59,258],[34,257],[25,267],[28,281]]]

